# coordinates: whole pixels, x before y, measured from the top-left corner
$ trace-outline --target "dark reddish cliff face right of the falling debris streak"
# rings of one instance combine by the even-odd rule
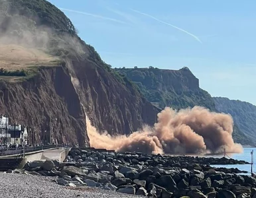
[[[126,81],[122,84],[111,73],[88,59],[70,60],[68,68],[77,79],[76,90],[92,125],[111,135],[129,134],[153,125],[160,111]]]

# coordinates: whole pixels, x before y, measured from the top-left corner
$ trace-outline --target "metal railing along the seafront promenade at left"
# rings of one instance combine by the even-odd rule
[[[54,149],[54,148],[60,148],[63,147],[63,145],[42,145],[38,147],[18,147],[18,148],[10,148],[10,149],[1,149],[0,150],[0,156],[8,156],[12,154],[18,154],[24,156],[27,152],[34,152],[34,151],[40,151],[40,150],[46,150],[46,149]]]

